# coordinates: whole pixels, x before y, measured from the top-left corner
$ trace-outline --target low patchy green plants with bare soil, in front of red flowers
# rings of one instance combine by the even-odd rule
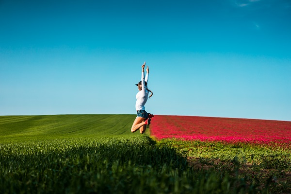
[[[174,148],[194,168],[237,176],[247,185],[256,182],[260,188],[269,182],[270,193],[291,193],[291,150],[286,147],[175,138],[162,139],[159,144]]]

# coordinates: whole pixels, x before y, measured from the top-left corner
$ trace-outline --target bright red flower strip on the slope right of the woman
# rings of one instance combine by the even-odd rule
[[[291,122],[197,116],[155,115],[151,135],[157,139],[275,143],[290,147]]]

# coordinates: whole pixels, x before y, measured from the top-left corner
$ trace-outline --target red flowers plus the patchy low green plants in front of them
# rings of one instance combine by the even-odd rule
[[[231,172],[246,182],[291,193],[291,122],[156,115],[152,138],[175,148],[194,168]]]

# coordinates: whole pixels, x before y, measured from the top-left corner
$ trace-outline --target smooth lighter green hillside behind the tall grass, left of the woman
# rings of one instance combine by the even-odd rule
[[[1,116],[3,138],[133,135],[134,115]],[[127,130],[129,129],[129,130]]]

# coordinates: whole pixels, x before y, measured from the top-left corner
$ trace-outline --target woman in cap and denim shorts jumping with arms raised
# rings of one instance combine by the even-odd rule
[[[136,114],[137,117],[135,118],[132,127],[131,127],[131,132],[134,133],[138,129],[140,130],[140,133],[145,133],[146,132],[146,126],[150,124],[150,118],[153,117],[154,115],[147,113],[145,110],[145,104],[148,98],[148,92],[151,92],[151,95],[149,96],[152,97],[153,92],[147,88],[147,81],[148,81],[148,73],[149,69],[148,66],[146,68],[146,78],[145,78],[145,66],[146,62],[142,65],[142,81],[140,81],[138,84],[136,84],[139,92],[136,94],[136,103],[135,103],[135,109],[136,109]]]

